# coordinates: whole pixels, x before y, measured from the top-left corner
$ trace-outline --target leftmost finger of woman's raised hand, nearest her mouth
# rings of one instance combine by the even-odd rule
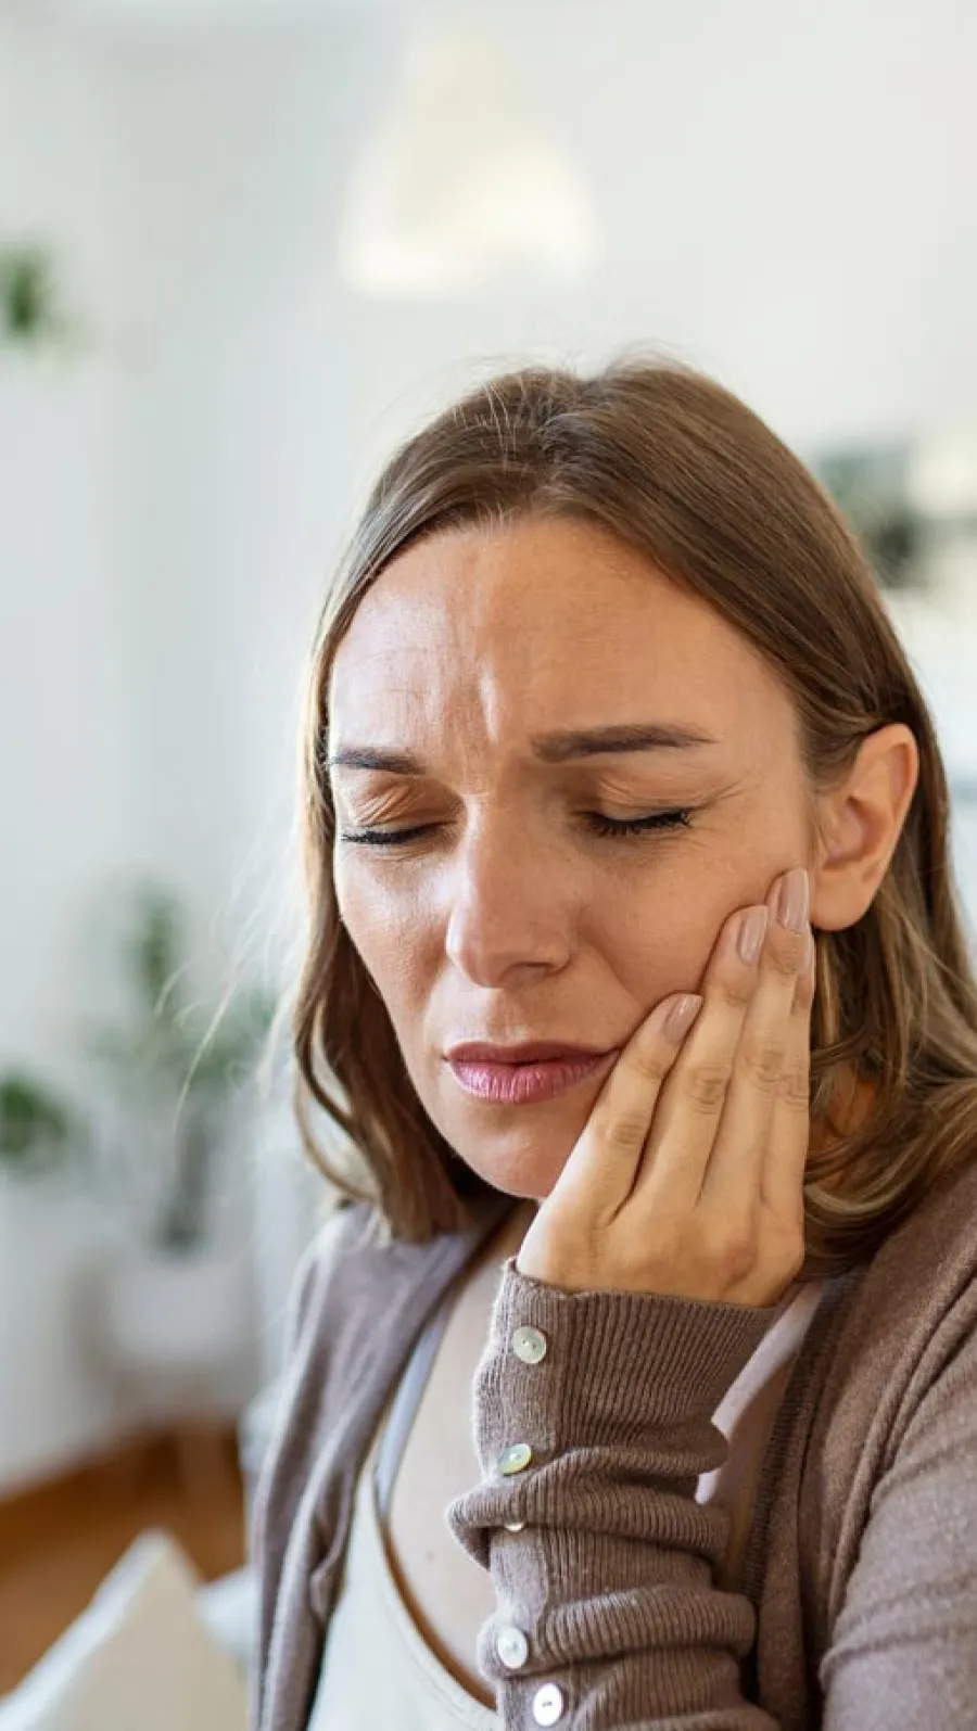
[[[683,1006],[684,1026],[676,1028],[672,1013]],[[605,1080],[560,1174],[563,1194],[586,1200],[594,1219],[613,1219],[629,1200],[662,1087],[700,1011],[702,997],[691,992],[662,999],[622,1047]]]

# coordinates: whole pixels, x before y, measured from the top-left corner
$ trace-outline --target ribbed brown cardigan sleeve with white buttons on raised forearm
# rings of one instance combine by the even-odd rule
[[[728,1454],[712,1412],[776,1314],[570,1293],[504,1264],[475,1378],[483,1477],[447,1520],[497,1589],[478,1665],[506,1731],[774,1726],[740,1689],[752,1605],[714,1586],[729,1516],[695,1490]],[[542,1336],[535,1362],[518,1329]]]

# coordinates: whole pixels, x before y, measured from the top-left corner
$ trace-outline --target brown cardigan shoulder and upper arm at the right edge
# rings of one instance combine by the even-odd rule
[[[802,1525],[831,1722],[954,1676],[977,1518],[977,1167],[930,1191],[844,1305],[807,1449]],[[849,1710],[845,1710],[849,1708]],[[871,1712],[870,1712],[871,1717]],[[949,1710],[953,1717],[953,1710]]]

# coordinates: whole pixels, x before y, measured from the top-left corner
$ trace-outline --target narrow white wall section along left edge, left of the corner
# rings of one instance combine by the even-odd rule
[[[118,305],[102,59],[0,19],[0,239],[52,241],[100,325]],[[71,1082],[92,886],[137,841],[125,383],[0,350],[0,1052]],[[88,990],[94,981],[87,981]],[[0,1184],[0,1485],[94,1447],[111,1402],[73,1340],[102,1222]]]

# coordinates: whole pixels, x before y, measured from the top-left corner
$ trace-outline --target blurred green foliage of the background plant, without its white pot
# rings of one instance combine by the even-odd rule
[[[249,1080],[270,1028],[274,999],[237,988],[201,1028],[199,1006],[187,1002],[185,917],[166,888],[133,895],[121,961],[133,1014],[121,1028],[95,1028],[88,1051],[113,1078],[116,1097],[137,1115],[166,1122],[168,1160],[149,1226],[151,1243],[185,1252],[206,1239],[220,1111]]]

